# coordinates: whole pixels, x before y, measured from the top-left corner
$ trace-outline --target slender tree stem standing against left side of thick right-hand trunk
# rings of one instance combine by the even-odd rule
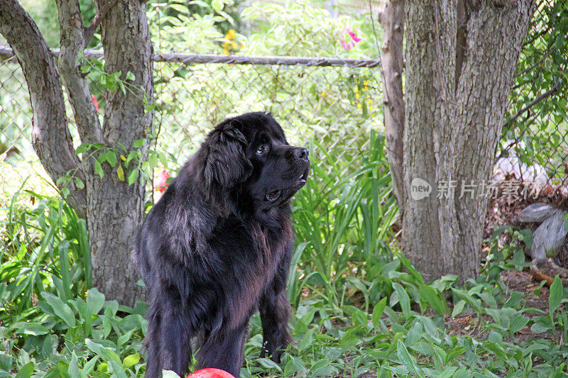
[[[381,70],[383,73],[383,110],[385,114],[385,136],[387,159],[393,179],[400,218],[404,215],[403,180],[403,40],[404,40],[404,0],[386,1],[379,12],[379,21],[384,30],[384,43],[381,48]]]

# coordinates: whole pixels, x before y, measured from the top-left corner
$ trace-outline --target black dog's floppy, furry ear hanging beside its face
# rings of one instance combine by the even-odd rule
[[[215,127],[204,143],[205,182],[234,187],[249,178],[252,165],[246,157],[246,138],[234,123],[221,123]]]

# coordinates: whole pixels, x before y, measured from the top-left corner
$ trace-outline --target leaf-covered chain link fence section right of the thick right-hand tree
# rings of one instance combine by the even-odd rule
[[[537,1],[510,92],[496,179],[523,196],[568,196],[568,1]]]

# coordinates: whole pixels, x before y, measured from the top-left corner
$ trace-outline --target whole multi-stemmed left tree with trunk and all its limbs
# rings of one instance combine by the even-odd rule
[[[141,297],[136,286],[138,274],[131,264],[133,235],[144,215],[145,182],[143,176],[132,184],[119,179],[117,167],[102,164],[102,179],[94,171],[92,157],[80,160],[72,148],[67,128],[61,79],[69,94],[82,143],[101,143],[105,150],[128,155],[136,140],[152,133],[152,114],[143,99],[152,101],[152,46],[148,33],[146,6],[143,1],[98,0],[97,20],[102,19],[105,71],[121,72],[126,90],[107,89],[107,105],[101,126],[92,104],[86,81],[77,67],[84,45],[84,28],[77,0],[58,0],[61,24],[61,54],[58,66],[37,26],[16,0],[0,1],[0,32],[14,49],[28,83],[34,117],[33,145],[40,161],[54,182],[72,169],[84,182],[84,189],[71,182],[67,201],[87,218],[92,255],[93,284],[107,299],[133,305]],[[89,28],[89,30],[92,28]],[[88,33],[87,33],[88,34]],[[88,38],[88,37],[87,37]],[[131,72],[134,79],[126,79]],[[146,148],[130,162],[129,169],[118,159],[124,177],[138,170],[146,160]],[[94,155],[97,156],[96,154]]]

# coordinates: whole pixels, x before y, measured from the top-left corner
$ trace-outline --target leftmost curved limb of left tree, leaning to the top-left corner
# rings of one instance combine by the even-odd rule
[[[0,33],[12,46],[26,77],[33,107],[32,145],[53,182],[80,166],[67,128],[63,90],[51,55],[38,26],[17,0],[0,1]],[[77,169],[75,177],[84,179]],[[77,215],[87,213],[84,191],[70,182],[67,201]]]

